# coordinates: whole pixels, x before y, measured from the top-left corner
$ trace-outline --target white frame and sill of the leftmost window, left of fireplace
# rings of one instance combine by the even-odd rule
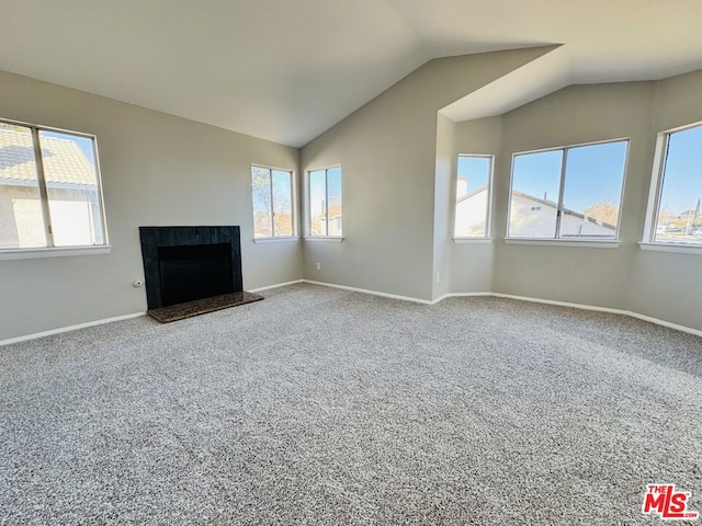
[[[46,247],[8,247],[0,248],[0,261],[2,260],[23,260],[50,256],[70,256],[82,254],[102,254],[112,250],[107,233],[107,219],[105,214],[104,195],[102,191],[102,174],[100,171],[100,153],[98,151],[98,136],[87,134],[84,132],[76,132],[72,129],[58,128],[55,126],[44,126],[41,124],[25,123],[11,118],[0,117],[1,124],[11,126],[20,126],[29,128],[32,136],[32,149],[34,150],[34,163],[36,167],[36,179],[38,186],[39,207],[42,210],[42,221],[44,226],[44,235]],[[77,245],[56,245],[54,241],[54,232],[52,228],[52,216],[49,210],[49,197],[46,184],[46,174],[44,167],[44,157],[42,153],[41,132],[57,133],[89,139],[92,144],[92,162],[95,170],[95,183],[98,192],[98,204],[100,206],[101,232],[103,242],[100,244],[77,244]]]

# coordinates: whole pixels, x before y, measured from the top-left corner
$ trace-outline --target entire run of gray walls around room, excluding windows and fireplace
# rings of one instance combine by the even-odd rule
[[[145,310],[144,289],[132,287],[143,277],[138,226],[217,224],[241,226],[246,288],[305,277],[421,299],[492,290],[702,330],[701,256],[638,247],[656,134],[702,121],[702,71],[569,87],[466,123],[437,115],[546,52],[432,60],[302,151],[0,72],[0,116],[98,135],[114,247],[0,261],[0,340]],[[619,248],[505,244],[512,152],[622,137],[631,150]],[[458,153],[496,155],[491,244],[451,240]],[[346,240],[252,243],[251,163],[341,163]]]

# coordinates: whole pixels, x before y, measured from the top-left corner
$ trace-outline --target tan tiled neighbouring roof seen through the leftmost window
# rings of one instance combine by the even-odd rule
[[[93,164],[76,142],[55,137],[41,140],[47,184],[97,184]],[[31,135],[0,130],[0,183],[2,180],[36,181]]]

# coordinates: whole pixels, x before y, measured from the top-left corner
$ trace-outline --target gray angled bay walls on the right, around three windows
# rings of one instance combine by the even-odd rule
[[[501,117],[456,125],[456,153],[496,153],[491,290],[631,310],[702,330],[700,255],[643,251],[656,135],[702,121],[702,71],[658,82],[575,85]],[[511,155],[631,138],[616,249],[506,244]],[[479,291],[490,266],[473,245],[452,249],[453,293]],[[477,265],[477,272],[476,272]]]

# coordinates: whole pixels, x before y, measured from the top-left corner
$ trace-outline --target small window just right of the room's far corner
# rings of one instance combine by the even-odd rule
[[[341,167],[308,172],[309,235],[341,237]]]

